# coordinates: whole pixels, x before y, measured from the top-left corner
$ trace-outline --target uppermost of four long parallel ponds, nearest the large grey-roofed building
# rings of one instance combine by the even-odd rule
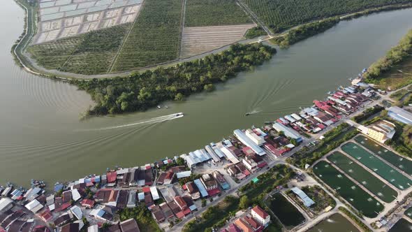
[[[378,145],[374,140],[366,138],[365,136],[358,136],[355,138],[356,142],[362,144],[362,146],[369,149],[371,152],[374,152],[378,157],[385,159],[388,163],[392,164],[393,166],[399,168],[400,170],[412,175],[412,161],[406,159],[404,157],[400,157],[399,155],[395,154],[395,152],[391,152],[390,150]]]

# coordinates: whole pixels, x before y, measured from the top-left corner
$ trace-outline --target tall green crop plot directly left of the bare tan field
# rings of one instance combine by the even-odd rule
[[[177,59],[181,21],[182,0],[146,0],[112,71]]]

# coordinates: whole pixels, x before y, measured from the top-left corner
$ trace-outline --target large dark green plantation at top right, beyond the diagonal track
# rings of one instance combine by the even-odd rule
[[[311,20],[409,0],[241,0],[274,32]]]

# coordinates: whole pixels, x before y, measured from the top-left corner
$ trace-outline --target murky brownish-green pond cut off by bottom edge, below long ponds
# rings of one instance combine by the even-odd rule
[[[307,232],[358,232],[359,230],[353,226],[344,216],[339,213],[330,216],[328,219],[323,220],[313,228],[307,230]]]

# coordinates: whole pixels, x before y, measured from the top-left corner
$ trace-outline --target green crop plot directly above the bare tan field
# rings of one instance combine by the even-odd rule
[[[187,0],[185,27],[252,23],[235,0]]]

